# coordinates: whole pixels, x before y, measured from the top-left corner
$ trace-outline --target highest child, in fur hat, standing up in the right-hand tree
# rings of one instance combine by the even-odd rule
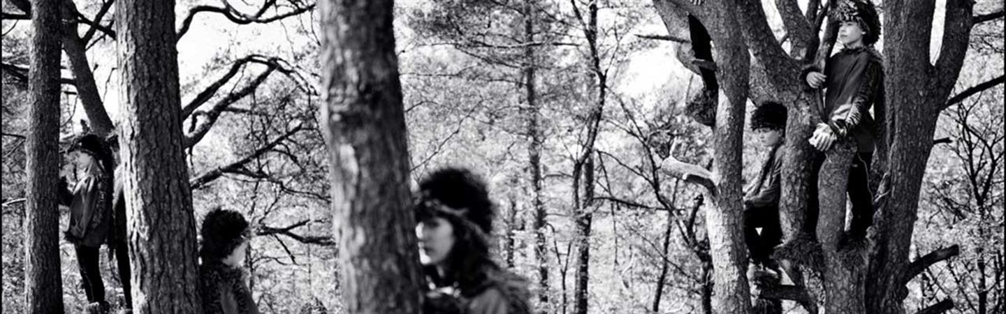
[[[856,155],[849,170],[848,194],[852,203],[849,240],[862,239],[872,222],[873,205],[867,184],[873,156],[875,132],[871,107],[882,107],[883,65],[873,43],[880,36],[880,21],[869,0],[842,2],[834,16],[841,25],[838,41],[842,50],[828,58],[824,70],[808,67],[804,71],[810,88],[826,89],[822,108],[824,123],[818,124],[811,145],[820,152],[814,161],[809,189],[809,221],[816,223],[818,212],[817,176],[825,154],[840,138],[851,137]],[[813,229],[812,225],[806,226]]]

